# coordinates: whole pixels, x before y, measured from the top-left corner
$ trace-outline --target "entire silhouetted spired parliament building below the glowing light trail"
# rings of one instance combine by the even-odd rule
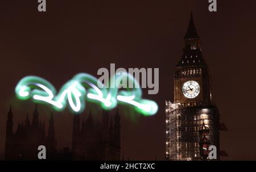
[[[64,148],[57,151],[53,115],[49,119],[48,133],[46,125],[39,121],[39,112],[35,107],[32,122],[27,118],[18,123],[13,132],[13,112],[10,108],[6,122],[5,160],[38,160],[38,146],[46,146],[47,160],[120,160],[120,116],[109,118],[103,111],[102,121],[94,121],[92,114],[80,121],[80,115],[73,117],[72,150]]]

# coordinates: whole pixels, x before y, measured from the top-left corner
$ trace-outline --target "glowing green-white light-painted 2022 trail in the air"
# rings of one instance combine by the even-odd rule
[[[119,90],[115,78],[125,78],[125,81],[132,81],[137,87]],[[145,116],[154,115],[158,111],[158,105],[154,101],[142,99],[139,83],[129,73],[113,75],[110,83],[115,83],[115,87],[107,89],[93,75],[79,73],[65,83],[57,93],[55,87],[46,79],[27,76],[19,81],[15,93],[16,97],[22,100],[32,99],[35,103],[51,104],[57,111],[63,111],[68,103],[72,111],[81,113],[85,109],[86,100],[100,104],[104,110],[112,110],[117,104],[129,104]]]

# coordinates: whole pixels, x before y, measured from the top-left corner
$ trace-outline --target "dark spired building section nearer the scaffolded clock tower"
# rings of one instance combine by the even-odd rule
[[[103,111],[101,123],[94,121],[91,112],[81,123],[80,116],[73,118],[73,160],[120,160],[120,116],[109,118]]]

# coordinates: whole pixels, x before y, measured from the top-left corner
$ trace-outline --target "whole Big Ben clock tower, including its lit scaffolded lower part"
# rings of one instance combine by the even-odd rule
[[[209,69],[191,12],[183,55],[174,72],[174,102],[166,101],[167,160],[203,160],[199,136],[202,125],[209,129],[205,139],[216,146],[219,159],[218,109],[212,101]]]

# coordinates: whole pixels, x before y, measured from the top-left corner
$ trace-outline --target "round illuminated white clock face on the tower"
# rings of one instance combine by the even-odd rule
[[[183,84],[182,93],[184,97],[193,99],[200,93],[200,85],[196,81],[187,81]]]

